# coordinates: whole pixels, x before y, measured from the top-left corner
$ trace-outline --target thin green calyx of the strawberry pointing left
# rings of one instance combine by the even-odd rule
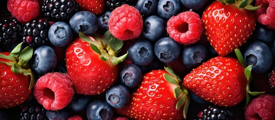
[[[245,103],[245,107],[248,105],[248,103],[250,102],[251,100],[251,97],[250,95],[253,95],[253,96],[257,96],[257,95],[260,95],[260,94],[263,94],[263,92],[258,92],[258,91],[251,91],[250,90],[250,81],[252,80],[252,74],[251,74],[251,70],[252,70],[252,67],[253,65],[250,64],[248,66],[246,66],[246,63],[245,63],[245,60],[240,52],[240,50],[238,48],[235,49],[235,54],[239,60],[239,62],[241,63],[241,65],[244,67],[244,74],[245,74],[245,77],[247,79],[247,85],[246,85],[246,103]]]

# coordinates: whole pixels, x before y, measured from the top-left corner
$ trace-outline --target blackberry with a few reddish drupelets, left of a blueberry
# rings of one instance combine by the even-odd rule
[[[31,47],[49,43],[49,28],[50,23],[43,18],[27,22],[23,29],[23,42]]]

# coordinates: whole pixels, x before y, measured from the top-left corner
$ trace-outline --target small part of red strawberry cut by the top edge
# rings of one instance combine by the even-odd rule
[[[76,0],[82,10],[90,11],[96,15],[101,14],[105,9],[105,0]]]

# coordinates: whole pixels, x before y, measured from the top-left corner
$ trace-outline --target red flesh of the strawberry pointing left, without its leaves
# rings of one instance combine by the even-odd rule
[[[247,79],[237,59],[217,56],[185,75],[183,85],[216,105],[233,106],[246,95]]]

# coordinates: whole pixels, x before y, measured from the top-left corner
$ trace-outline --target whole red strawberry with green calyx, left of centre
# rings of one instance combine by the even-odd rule
[[[102,38],[80,32],[66,49],[68,75],[78,94],[100,94],[112,85],[119,74],[118,64],[127,53],[116,57],[123,41],[106,31]]]

